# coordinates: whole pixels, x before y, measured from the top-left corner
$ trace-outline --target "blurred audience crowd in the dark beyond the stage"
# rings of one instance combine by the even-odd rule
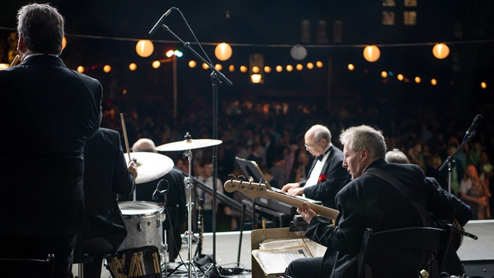
[[[173,117],[172,104],[165,101],[139,101],[139,106],[108,102],[102,126],[121,131],[118,115],[123,113],[130,142],[146,137],[162,145],[184,140],[187,132],[196,139],[212,138],[212,109],[209,107],[204,99],[196,99],[192,104],[179,107],[178,115]],[[218,178],[224,182],[231,173],[243,174],[235,162],[235,157],[240,157],[256,161],[271,184],[277,187],[305,179],[313,160],[303,146],[303,135],[308,127],[324,124],[333,138],[338,138],[344,128],[367,124],[383,130],[389,150],[396,148],[405,153],[410,163],[419,165],[426,176],[435,177],[448,190],[448,168],[442,171],[439,168],[459,149],[475,116],[455,120],[455,113],[450,110],[427,104],[396,109],[349,104],[328,111],[321,104],[303,101],[224,101],[218,108],[218,139],[223,141],[218,146]],[[461,192],[466,193],[462,180],[468,177],[465,169],[473,166],[483,185],[482,192],[489,199],[494,159],[492,115],[475,112],[483,113],[484,120],[477,126],[472,140],[456,153],[451,191],[459,197],[464,195]],[[336,140],[332,143],[342,149]],[[212,148],[193,150],[193,153],[195,162],[202,157],[210,159]],[[182,152],[163,154],[188,171],[188,161],[182,160]],[[480,198],[478,203],[485,204],[485,198]],[[479,215],[487,216],[490,214]]]

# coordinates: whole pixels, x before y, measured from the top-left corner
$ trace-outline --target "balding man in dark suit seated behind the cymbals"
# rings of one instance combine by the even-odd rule
[[[148,138],[141,138],[134,143],[132,146],[132,151],[157,153],[156,145]],[[160,166],[158,165],[158,167]],[[167,165],[162,165],[162,167],[167,167]],[[180,251],[180,247],[182,245],[180,235],[182,233],[182,225],[186,222],[187,216],[186,193],[183,184],[183,177],[182,172],[172,168],[170,172],[166,173],[164,176],[153,181],[140,183],[136,186],[136,200],[163,203],[164,196],[160,196],[157,201],[153,200],[152,196],[160,180],[164,179],[168,181],[166,206],[169,215],[166,216],[167,219],[163,223],[163,234],[166,234],[170,262],[175,261],[175,258],[178,256],[178,252]],[[166,185],[164,186],[165,188],[160,189],[166,189]]]

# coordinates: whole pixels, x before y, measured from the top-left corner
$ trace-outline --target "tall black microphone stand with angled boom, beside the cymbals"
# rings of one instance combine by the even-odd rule
[[[210,69],[212,69],[211,72],[211,85],[213,88],[213,139],[218,139],[218,82],[221,84],[222,82],[226,82],[228,85],[233,85],[233,83],[228,80],[220,71],[218,71],[214,65],[206,60],[203,56],[201,56],[199,53],[197,53],[196,50],[194,50],[191,47],[190,42],[184,42],[180,37],[178,37],[173,31],[168,28],[166,25],[162,25],[163,29],[165,29],[168,33],[170,33],[173,37],[175,37],[178,41],[180,41],[183,46],[188,48],[196,57],[198,57],[201,61],[206,63]],[[206,271],[206,273],[209,273],[210,277],[222,277],[218,269],[216,267],[216,183],[217,183],[217,172],[218,172],[218,147],[214,146],[213,147],[213,263],[211,267]],[[211,271],[210,271],[211,270]]]

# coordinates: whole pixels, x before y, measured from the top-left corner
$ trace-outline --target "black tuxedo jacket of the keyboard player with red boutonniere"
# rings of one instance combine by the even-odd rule
[[[350,182],[351,176],[348,171],[343,168],[343,152],[335,146],[331,146],[331,151],[326,163],[321,170],[321,174],[326,175],[326,180],[318,182],[316,185],[303,189],[305,197],[323,202],[324,206],[335,208],[335,196],[343,186]],[[311,170],[307,174],[311,175],[312,169],[316,165],[317,159],[314,160]],[[300,182],[304,186],[305,181]]]

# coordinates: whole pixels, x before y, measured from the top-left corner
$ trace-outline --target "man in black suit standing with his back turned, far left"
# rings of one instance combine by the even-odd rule
[[[87,221],[83,152],[101,122],[102,87],[58,57],[65,22],[55,8],[26,5],[17,19],[23,62],[0,71],[0,257],[54,253],[54,276],[67,277]]]

